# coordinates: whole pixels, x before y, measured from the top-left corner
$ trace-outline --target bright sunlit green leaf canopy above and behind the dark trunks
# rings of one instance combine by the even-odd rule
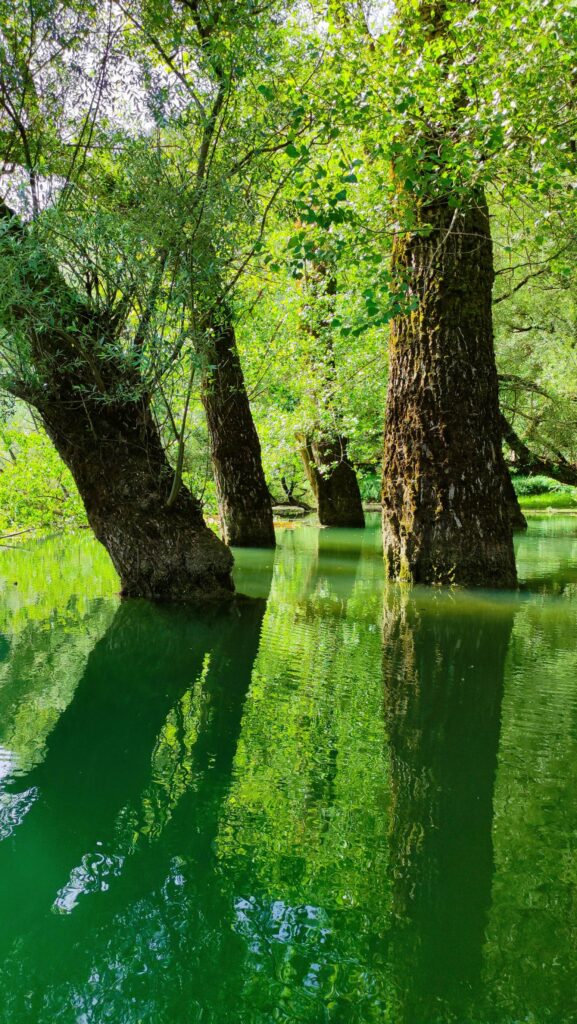
[[[423,199],[457,209],[483,187],[503,412],[577,465],[569,0],[18,0],[0,22],[5,390],[38,395],[50,367],[31,339],[64,328],[50,366],[82,365],[98,401],[150,395],[173,463],[189,409],[184,478],[215,512],[200,382],[224,303],[274,497],[310,500],[297,437],[317,431],[346,438],[374,500],[388,323],[408,302],[393,239]],[[32,498],[5,469],[5,526],[77,521],[51,447],[25,443]]]

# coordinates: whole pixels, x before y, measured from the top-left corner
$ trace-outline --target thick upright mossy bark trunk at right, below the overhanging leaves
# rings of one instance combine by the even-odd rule
[[[411,312],[391,329],[383,461],[388,574],[426,584],[513,587],[510,489],[501,451],[482,195],[420,211],[425,236],[397,239],[394,270]]]

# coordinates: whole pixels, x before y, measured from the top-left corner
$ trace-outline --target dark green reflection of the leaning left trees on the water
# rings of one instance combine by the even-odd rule
[[[264,608],[119,606],[13,783],[31,806],[0,843],[2,1022],[169,1020],[191,934],[188,971],[212,984],[214,840]]]

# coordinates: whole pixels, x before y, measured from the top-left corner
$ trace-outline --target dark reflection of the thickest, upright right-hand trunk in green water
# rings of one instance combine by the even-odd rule
[[[513,610],[386,592],[396,1020],[466,1020],[480,995],[493,878],[493,793]],[[426,596],[425,596],[426,594]]]

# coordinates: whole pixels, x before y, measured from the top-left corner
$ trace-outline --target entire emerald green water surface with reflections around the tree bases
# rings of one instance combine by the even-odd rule
[[[577,518],[519,594],[279,540],[202,612],[0,553],[0,1021],[577,1022]]]

